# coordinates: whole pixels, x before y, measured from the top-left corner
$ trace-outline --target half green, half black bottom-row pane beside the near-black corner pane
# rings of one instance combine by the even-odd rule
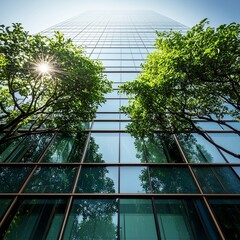
[[[159,199],[155,203],[162,240],[220,239],[202,201]]]

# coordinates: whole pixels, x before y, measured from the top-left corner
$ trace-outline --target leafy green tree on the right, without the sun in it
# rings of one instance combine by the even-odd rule
[[[130,97],[129,106],[122,109],[136,120],[130,132],[143,136],[154,130],[196,131],[213,143],[194,122],[201,119],[239,134],[224,117],[240,118],[240,24],[216,29],[206,24],[204,19],[186,34],[157,33],[156,49],[143,71],[121,87]]]

